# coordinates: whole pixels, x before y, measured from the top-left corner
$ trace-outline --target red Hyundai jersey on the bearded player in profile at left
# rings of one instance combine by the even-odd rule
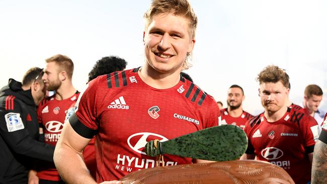
[[[44,141],[47,144],[56,145],[65,122],[65,116],[72,104],[77,101],[79,92],[65,99],[58,101],[52,97],[44,99],[38,106],[38,121],[43,127]],[[37,166],[37,176],[40,179],[60,180],[59,173],[52,162],[43,163]]]

